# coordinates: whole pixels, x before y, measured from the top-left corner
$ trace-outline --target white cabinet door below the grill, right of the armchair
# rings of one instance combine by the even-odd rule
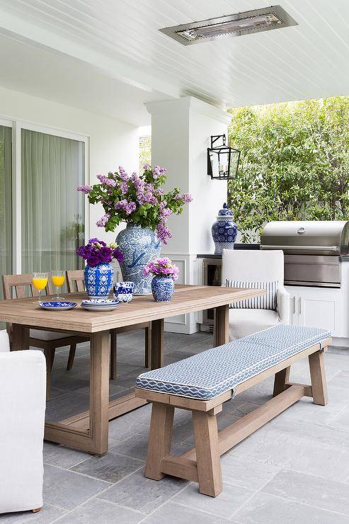
[[[334,331],[336,326],[336,302],[299,297],[298,317],[300,326],[319,327]]]

